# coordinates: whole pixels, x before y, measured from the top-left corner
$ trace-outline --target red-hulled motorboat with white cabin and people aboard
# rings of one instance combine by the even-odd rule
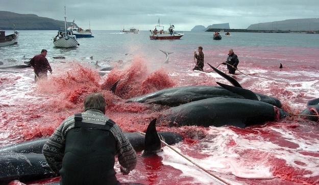
[[[151,32],[150,39],[151,40],[176,40],[180,39],[184,36],[182,32],[176,32],[173,24],[169,24],[169,28],[167,31],[164,30],[164,27],[160,25],[160,20],[158,19],[157,25],[155,25],[155,29]]]

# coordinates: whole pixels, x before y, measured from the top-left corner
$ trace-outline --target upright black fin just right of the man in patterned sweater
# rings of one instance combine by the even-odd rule
[[[145,148],[141,156],[150,156],[162,151],[161,139],[156,131],[156,118],[151,121],[145,134]]]

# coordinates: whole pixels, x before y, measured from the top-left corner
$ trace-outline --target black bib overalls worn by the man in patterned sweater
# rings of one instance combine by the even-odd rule
[[[61,185],[118,184],[114,170],[116,140],[110,129],[115,124],[82,122],[75,114],[75,126],[66,133]]]

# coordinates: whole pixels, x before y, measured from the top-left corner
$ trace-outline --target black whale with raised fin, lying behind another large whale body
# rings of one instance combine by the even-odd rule
[[[191,101],[197,101],[213,97],[233,97],[233,98],[247,98],[263,101],[281,108],[279,99],[264,94],[252,92],[248,89],[243,89],[239,83],[231,76],[214,68],[220,75],[223,75],[235,87],[223,85],[220,86],[185,86],[162,89],[156,92],[148,93],[142,96],[133,97],[127,102],[135,101],[141,103],[156,103],[161,105],[168,105],[176,107]],[[220,84],[219,84],[220,85]]]

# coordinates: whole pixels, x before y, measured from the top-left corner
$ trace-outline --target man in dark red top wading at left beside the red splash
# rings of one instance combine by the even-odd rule
[[[47,78],[47,71],[52,74],[52,68],[45,58],[46,54],[47,50],[42,49],[40,55],[36,55],[30,60],[30,65],[34,68],[34,82]]]

